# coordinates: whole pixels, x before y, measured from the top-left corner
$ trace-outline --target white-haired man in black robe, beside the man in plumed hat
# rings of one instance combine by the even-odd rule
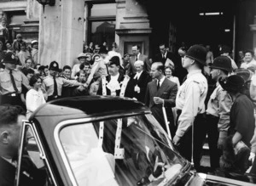
[[[142,60],[137,60],[134,63],[134,66],[137,72],[131,76],[131,79],[127,84],[125,97],[137,99],[144,103],[147,85],[148,82],[151,81],[151,77],[149,76],[148,71],[143,70],[144,62]]]

